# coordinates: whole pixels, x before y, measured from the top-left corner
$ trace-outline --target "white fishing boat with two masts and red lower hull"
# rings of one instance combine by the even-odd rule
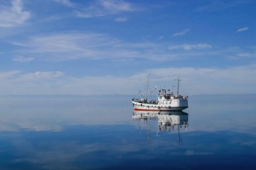
[[[148,100],[148,86],[146,96],[141,99],[132,99],[133,110],[135,111],[152,111],[152,112],[172,112],[181,111],[189,108],[188,96],[179,95],[179,81],[178,81],[177,95],[170,92],[170,89],[160,89],[157,95],[158,99]],[[148,78],[149,81],[149,78]],[[156,87],[155,87],[156,89]]]

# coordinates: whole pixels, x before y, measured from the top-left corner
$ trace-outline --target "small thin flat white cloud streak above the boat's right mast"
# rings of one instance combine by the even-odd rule
[[[180,44],[168,47],[169,50],[203,50],[207,48],[212,48],[212,46],[210,44]]]

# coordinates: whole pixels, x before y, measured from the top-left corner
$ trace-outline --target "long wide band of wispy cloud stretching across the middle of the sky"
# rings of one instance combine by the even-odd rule
[[[164,38],[163,36],[160,37]],[[13,46],[13,60],[28,62],[33,59],[46,61],[80,60],[88,58],[93,60],[133,61],[135,59],[167,61],[186,60],[189,56],[203,57],[216,56],[223,58],[242,58],[253,60],[255,50],[241,48],[223,49],[207,43],[196,44],[170,44],[168,42],[142,41],[125,42],[107,34],[63,32],[31,36],[26,40],[9,41]],[[22,56],[20,56],[22,54]],[[240,56],[238,56],[238,54]],[[251,57],[249,57],[249,55]],[[31,58],[32,57],[32,58]]]

